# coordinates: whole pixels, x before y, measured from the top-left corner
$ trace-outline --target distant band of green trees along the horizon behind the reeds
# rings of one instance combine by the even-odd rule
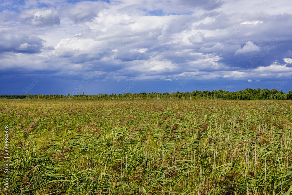
[[[200,99],[221,99],[221,100],[292,100],[292,91],[288,93],[276,89],[245,89],[242,91],[229,92],[225,90],[198,91],[174,93],[124,93],[124,94],[101,94],[98,95],[0,95],[0,98],[7,99],[43,99],[43,100],[200,100]]]

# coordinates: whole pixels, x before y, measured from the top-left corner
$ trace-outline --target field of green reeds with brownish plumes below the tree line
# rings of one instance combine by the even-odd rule
[[[0,100],[10,194],[290,194],[292,102]]]

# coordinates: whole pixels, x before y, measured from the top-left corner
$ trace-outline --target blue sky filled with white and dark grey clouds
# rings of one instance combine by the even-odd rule
[[[0,95],[292,90],[290,0],[1,0]]]

